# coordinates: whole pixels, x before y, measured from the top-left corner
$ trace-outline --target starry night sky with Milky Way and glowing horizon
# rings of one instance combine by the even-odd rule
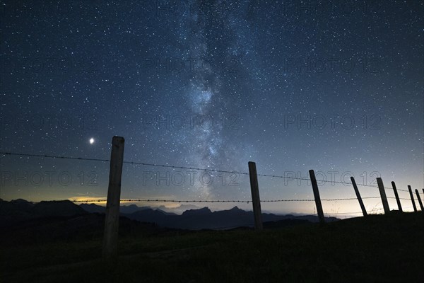
[[[248,161],[260,174],[309,178],[314,169],[324,199],[354,197],[351,185],[331,182],[350,176],[358,185],[394,180],[423,197],[423,1],[0,0],[0,8],[2,152],[108,159],[117,135],[125,161],[236,172],[125,163],[122,198],[250,200],[240,174]],[[2,154],[0,163],[4,200],[107,195],[107,162]],[[261,200],[313,198],[307,180],[259,176],[259,190]],[[360,212],[355,200],[323,207]],[[378,212],[381,200],[365,207]]]

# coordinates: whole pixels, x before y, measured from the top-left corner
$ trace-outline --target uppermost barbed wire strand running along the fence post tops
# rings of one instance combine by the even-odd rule
[[[60,158],[60,159],[73,159],[73,160],[81,160],[81,161],[101,161],[101,162],[110,162],[110,159],[101,159],[101,158],[86,158],[86,157],[72,157],[72,156],[54,156],[54,155],[47,155],[47,154],[21,154],[16,152],[6,152],[6,151],[0,151],[0,154],[4,155],[10,155],[10,156],[30,156],[30,157],[45,157],[45,158]],[[198,171],[210,171],[210,172],[217,172],[217,173],[232,173],[232,174],[240,174],[240,175],[249,175],[249,173],[246,172],[238,172],[238,171],[227,171],[227,170],[218,170],[218,169],[212,169],[212,168],[197,168],[197,167],[189,167],[189,166],[172,166],[172,165],[165,165],[165,164],[157,164],[157,163],[144,163],[144,162],[138,162],[138,161],[123,161],[123,163],[126,164],[132,164],[132,165],[141,165],[141,166],[155,166],[155,167],[163,167],[163,168],[178,168],[178,169],[189,169],[189,170],[198,170]],[[309,178],[298,178],[298,177],[290,177],[290,176],[282,176],[282,175],[269,175],[269,174],[257,174],[258,176],[262,177],[270,177],[270,178],[283,178],[283,179],[290,179],[290,180],[306,180],[310,181]],[[342,182],[342,181],[336,181],[336,180],[317,180],[317,182],[323,182],[323,183],[336,183],[336,184],[343,184],[343,185],[352,185],[352,183],[348,182]],[[363,187],[375,187],[378,188],[378,186],[375,185],[367,185],[367,184],[360,184],[357,185],[363,186]],[[393,189],[392,187],[384,187],[387,190]],[[408,190],[402,190],[397,189],[401,192],[409,192]]]

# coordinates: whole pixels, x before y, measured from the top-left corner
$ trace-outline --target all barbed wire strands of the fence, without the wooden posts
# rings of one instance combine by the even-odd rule
[[[73,157],[73,156],[58,156],[58,155],[47,155],[47,154],[24,154],[24,153],[17,153],[17,152],[6,152],[6,151],[0,151],[0,154],[3,156],[26,156],[26,157],[37,157],[37,158],[54,158],[54,159],[70,159],[70,160],[78,160],[78,161],[99,161],[99,162],[110,162],[110,159],[104,159],[104,158],[86,158],[86,157]],[[165,165],[165,164],[158,164],[158,163],[145,163],[145,162],[139,162],[139,161],[123,161],[123,163],[131,164],[131,165],[139,165],[139,166],[153,166],[153,167],[161,167],[161,168],[172,168],[172,169],[186,169],[186,170],[196,170],[196,171],[208,171],[213,173],[232,173],[232,174],[239,174],[239,175],[249,175],[247,172],[240,172],[240,171],[228,171],[228,170],[219,170],[215,168],[199,168],[199,167],[192,167],[192,166],[172,166],[172,165]],[[281,179],[287,179],[287,180],[306,180],[311,181],[310,178],[300,178],[300,177],[293,177],[293,176],[286,176],[286,175],[274,175],[274,174],[262,174],[258,173],[257,176],[266,177],[266,178],[281,178]],[[331,184],[341,184],[341,185],[352,185],[352,183],[343,182],[343,181],[336,181],[336,180],[317,180],[319,183],[331,183]],[[368,185],[368,184],[360,184],[357,185],[363,186],[363,187],[373,187],[378,189],[378,186],[375,185]],[[384,187],[386,190],[393,190],[392,187]],[[408,190],[402,190],[397,189],[401,192],[408,192]],[[362,197],[363,200],[367,199],[381,199],[381,196],[372,196],[372,197]],[[387,197],[387,199],[396,200],[396,197]],[[321,199],[322,202],[338,202],[338,201],[350,201],[350,200],[358,200],[356,197],[346,197],[346,198],[333,198],[333,199]],[[405,197],[399,197],[399,200],[411,200],[409,198]],[[93,203],[93,202],[107,202],[107,199],[105,198],[99,198],[99,199],[90,199],[90,200],[71,200],[72,202],[76,203]],[[120,202],[173,202],[173,203],[252,203],[252,200],[161,200],[161,199],[152,199],[152,198],[145,198],[145,199],[121,199]],[[260,202],[269,203],[269,202],[315,202],[315,199],[279,199],[279,200],[260,200]],[[408,207],[411,208],[411,207]],[[379,212],[383,210],[383,208],[379,209],[371,209],[372,212]],[[314,213],[317,215],[317,213]],[[363,214],[363,212],[337,212],[337,213],[325,213],[328,215],[336,215],[336,214]]]

